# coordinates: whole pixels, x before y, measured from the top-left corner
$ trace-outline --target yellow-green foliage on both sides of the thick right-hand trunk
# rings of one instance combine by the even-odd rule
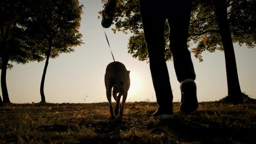
[[[190,41],[197,44],[191,50],[202,61],[202,52],[223,50],[216,7],[213,0],[194,1],[190,21]],[[256,11],[254,0],[227,0],[227,17],[233,43],[245,44],[248,48],[256,46]],[[253,10],[254,9],[254,10]]]

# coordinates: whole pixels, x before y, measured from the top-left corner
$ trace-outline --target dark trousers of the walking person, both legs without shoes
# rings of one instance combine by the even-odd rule
[[[140,0],[140,12],[157,102],[159,108],[172,110],[173,95],[164,55],[164,26],[168,20],[170,49],[178,81],[195,79],[187,49],[191,1]]]

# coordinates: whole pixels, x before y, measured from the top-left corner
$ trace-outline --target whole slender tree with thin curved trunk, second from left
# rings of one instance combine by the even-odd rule
[[[30,34],[37,38],[36,47],[46,58],[40,85],[41,102],[45,103],[44,82],[50,58],[62,52],[73,52],[82,44],[79,33],[82,7],[78,0],[33,1]]]

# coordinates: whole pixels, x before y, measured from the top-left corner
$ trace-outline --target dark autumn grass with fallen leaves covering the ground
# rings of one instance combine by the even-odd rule
[[[157,104],[128,102],[110,119],[108,103],[9,104],[0,108],[0,143],[256,143],[256,104],[200,102],[191,115],[156,121]]]

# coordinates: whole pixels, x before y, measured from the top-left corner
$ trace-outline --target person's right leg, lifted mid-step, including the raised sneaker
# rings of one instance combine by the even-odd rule
[[[187,37],[190,23],[191,1],[175,1],[171,3],[168,16],[170,27],[170,49],[173,55],[177,79],[181,82],[181,111],[190,113],[198,107],[196,75],[187,49]]]

